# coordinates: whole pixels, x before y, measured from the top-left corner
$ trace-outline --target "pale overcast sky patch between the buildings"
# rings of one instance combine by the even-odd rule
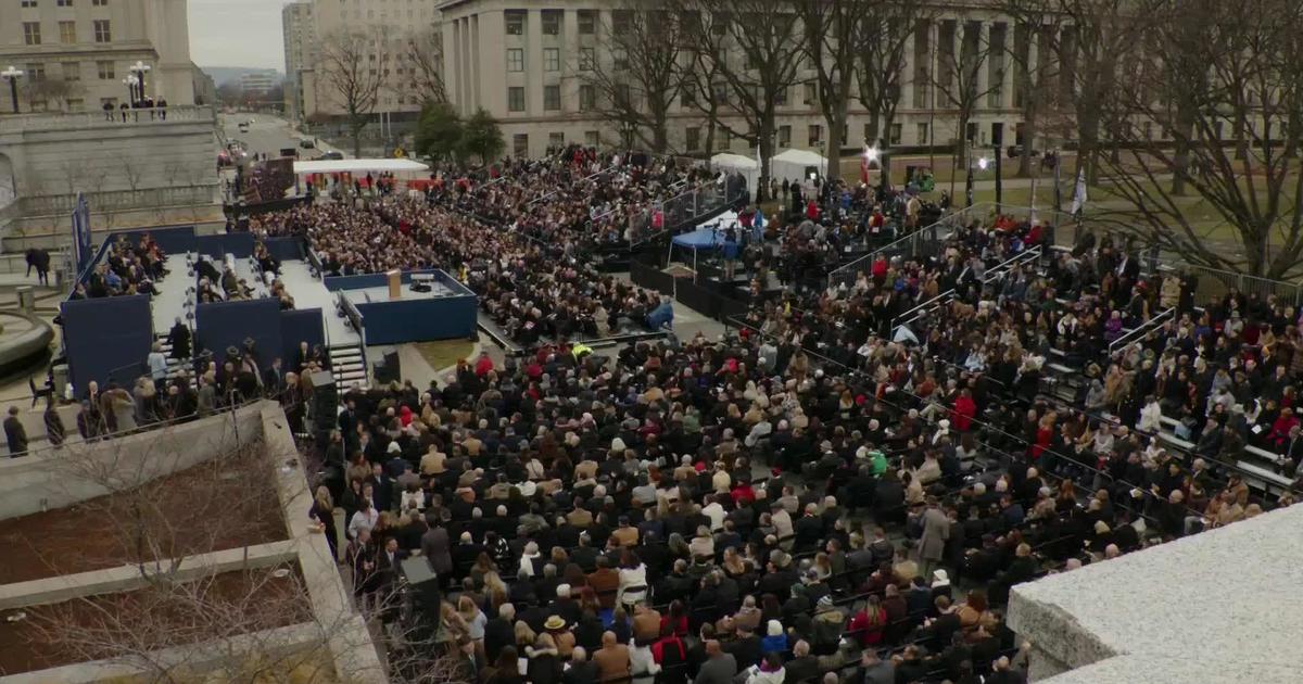
[[[190,59],[199,66],[285,68],[283,0],[189,0]]]

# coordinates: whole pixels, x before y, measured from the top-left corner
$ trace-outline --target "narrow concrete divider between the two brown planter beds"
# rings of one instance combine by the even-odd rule
[[[283,541],[189,556],[182,559],[175,577],[181,581],[192,581],[208,575],[296,562],[298,554],[294,546],[294,542]],[[171,560],[146,563],[146,572],[150,572],[150,568],[165,572],[171,563]],[[102,571],[7,584],[0,586],[0,611],[60,603],[98,594],[132,591],[145,585],[146,580],[141,576],[141,568],[137,565],[119,565]]]

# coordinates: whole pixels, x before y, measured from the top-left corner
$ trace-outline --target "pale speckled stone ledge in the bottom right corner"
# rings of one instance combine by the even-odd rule
[[[1053,684],[1299,681],[1303,506],[1012,589]],[[1070,671],[1058,674],[1062,668]],[[1046,677],[1046,675],[1049,675]]]

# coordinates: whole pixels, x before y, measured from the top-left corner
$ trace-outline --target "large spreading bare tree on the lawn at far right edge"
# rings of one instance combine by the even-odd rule
[[[1126,154],[1101,156],[1106,192],[1148,242],[1194,263],[1272,279],[1303,251],[1303,5],[1149,0],[1139,53],[1118,82]],[[1139,21],[1139,20],[1138,20]],[[1169,146],[1161,138],[1171,137]],[[1167,180],[1174,181],[1170,186]],[[1196,205],[1181,197],[1192,190]],[[1231,228],[1209,240],[1209,208]]]

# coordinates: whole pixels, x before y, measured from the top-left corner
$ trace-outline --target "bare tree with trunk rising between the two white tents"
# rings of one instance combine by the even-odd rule
[[[804,55],[800,20],[788,5],[769,0],[676,1],[687,3],[685,8],[678,8],[680,14],[697,12],[698,18],[687,22],[685,35],[696,50],[709,50],[721,44],[717,38],[724,38],[719,52],[710,56],[728,95],[722,109],[735,115],[747,128],[737,130],[730,116],[717,117],[717,124],[758,146],[756,197],[764,198],[769,188],[769,160],[774,156],[778,107],[787,102]],[[735,50],[741,59],[730,56]]]

